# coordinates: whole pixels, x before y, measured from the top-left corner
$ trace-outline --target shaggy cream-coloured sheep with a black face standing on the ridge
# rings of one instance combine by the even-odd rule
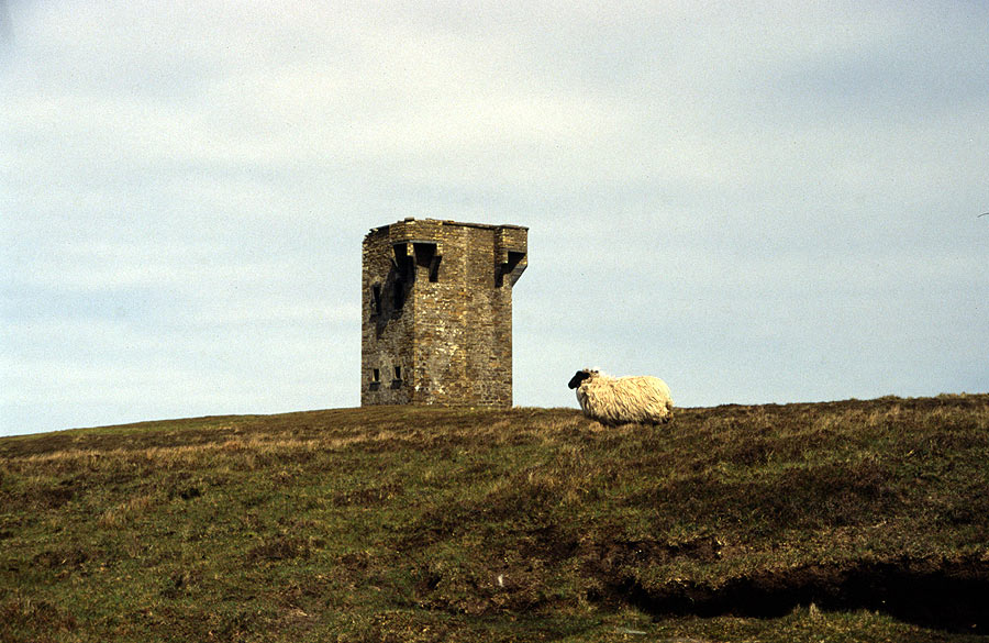
[[[610,377],[585,368],[567,386],[577,389],[577,401],[585,415],[609,426],[631,422],[664,424],[673,420],[669,387],[658,377]]]

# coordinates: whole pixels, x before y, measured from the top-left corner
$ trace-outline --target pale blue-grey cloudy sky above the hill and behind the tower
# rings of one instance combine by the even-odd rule
[[[0,434],[359,403],[360,241],[530,226],[514,395],[989,390],[989,3],[0,3]]]

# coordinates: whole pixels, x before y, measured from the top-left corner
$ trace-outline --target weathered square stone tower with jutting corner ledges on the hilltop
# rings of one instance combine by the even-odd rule
[[[364,237],[362,406],[512,406],[512,286],[527,237],[433,219]]]

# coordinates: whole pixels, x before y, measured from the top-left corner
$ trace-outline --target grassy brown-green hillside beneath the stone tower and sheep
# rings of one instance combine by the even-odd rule
[[[989,396],[0,439],[0,641],[985,641]]]

